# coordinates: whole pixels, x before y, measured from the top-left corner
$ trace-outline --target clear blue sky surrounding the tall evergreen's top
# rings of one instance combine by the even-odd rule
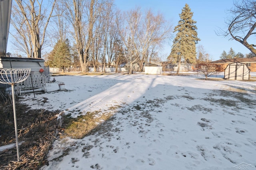
[[[120,10],[130,10],[136,7],[141,7],[142,10],[150,8],[154,12],[163,14],[166,20],[171,21],[173,27],[180,20],[179,14],[182,8],[188,4],[194,12],[192,19],[197,21],[198,37],[201,39],[198,45],[204,47],[212,60],[219,60],[223,50],[228,53],[231,47],[236,53],[240,52],[244,55],[250,53],[238,41],[228,40],[227,37],[221,37],[215,33],[219,28],[225,28],[226,12],[232,8],[233,0],[115,0],[115,4]],[[169,54],[170,51],[171,44],[166,44],[164,52]]]

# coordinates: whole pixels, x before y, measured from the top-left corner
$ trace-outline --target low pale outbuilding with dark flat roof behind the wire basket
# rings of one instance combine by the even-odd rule
[[[42,74],[41,69],[45,69],[44,59],[19,57],[0,57],[0,68],[31,68],[31,72],[38,75]]]

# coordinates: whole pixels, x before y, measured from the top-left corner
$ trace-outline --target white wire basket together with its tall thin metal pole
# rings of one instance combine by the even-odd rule
[[[19,143],[18,143],[18,129],[17,129],[17,118],[16,118],[14,83],[23,82],[24,80],[26,80],[28,78],[29,74],[30,74],[30,68],[0,69],[0,83],[12,85],[12,105],[13,105],[14,127],[15,127],[16,149],[17,149],[18,161],[20,161],[20,154],[19,154]]]

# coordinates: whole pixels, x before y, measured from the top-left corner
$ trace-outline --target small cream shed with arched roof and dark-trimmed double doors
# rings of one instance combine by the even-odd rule
[[[250,79],[250,70],[243,63],[231,63],[225,68],[224,78],[230,80],[249,80]]]

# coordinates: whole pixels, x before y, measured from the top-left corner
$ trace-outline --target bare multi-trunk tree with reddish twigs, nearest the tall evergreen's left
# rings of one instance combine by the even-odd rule
[[[143,63],[148,61],[149,56],[156,53],[156,46],[170,37],[170,26],[165,24],[161,14],[154,16],[151,10],[143,15],[140,8],[118,14],[116,23],[120,39],[122,40],[126,53],[129,74],[132,73],[133,65],[138,63],[140,69]],[[150,52],[150,50],[152,50]]]

